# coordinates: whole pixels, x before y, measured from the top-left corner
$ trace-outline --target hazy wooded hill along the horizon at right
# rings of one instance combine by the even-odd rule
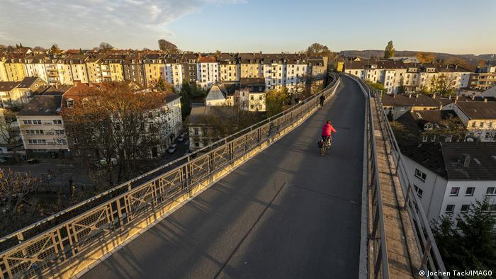
[[[412,50],[396,50],[395,56],[415,56],[419,51]],[[451,53],[442,53],[442,52],[429,52],[433,53],[436,59],[439,61],[450,62],[456,61],[460,64],[463,64],[468,69],[475,69],[480,60],[490,61],[492,59],[493,54],[487,55],[453,55]],[[339,52],[340,56],[344,57],[383,57],[384,50],[342,50]],[[494,61],[496,62],[496,54],[494,54]],[[494,63],[492,63],[494,64]]]

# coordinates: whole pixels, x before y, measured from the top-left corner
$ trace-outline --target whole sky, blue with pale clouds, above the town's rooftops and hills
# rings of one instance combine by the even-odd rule
[[[201,52],[496,52],[495,0],[0,0],[0,44]]]

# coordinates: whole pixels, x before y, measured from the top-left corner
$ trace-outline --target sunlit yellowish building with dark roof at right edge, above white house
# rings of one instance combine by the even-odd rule
[[[496,142],[496,102],[458,101],[453,110],[466,125],[467,141]]]

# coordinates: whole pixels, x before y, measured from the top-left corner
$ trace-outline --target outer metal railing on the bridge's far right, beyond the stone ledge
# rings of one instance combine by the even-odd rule
[[[407,210],[408,216],[410,217],[410,222],[414,229],[413,233],[415,235],[415,241],[417,242],[417,247],[420,253],[419,256],[421,258],[421,268],[426,272],[425,274],[427,274],[427,271],[445,272],[446,268],[444,267],[441,254],[439,253],[436,241],[434,240],[431,227],[429,226],[429,221],[427,220],[427,216],[424,212],[424,207],[422,207],[422,203],[413,189],[411,173],[408,171],[405,158],[403,157],[398,142],[396,141],[393,129],[388,121],[388,116],[383,109],[381,94],[379,94],[376,89],[372,89],[370,86],[367,86],[363,83],[363,81],[361,81],[361,79],[356,80],[360,82],[370,98],[375,98],[378,120],[381,125],[381,130],[385,132],[384,135],[387,137],[384,140],[389,142],[389,152],[393,155],[393,160],[396,166],[395,175],[398,176],[400,186],[402,188],[403,198],[405,200],[405,204],[402,205],[402,209]],[[368,109],[371,110],[370,103],[368,104]],[[372,117],[371,111],[369,111],[369,115]],[[433,277],[439,278],[437,275],[434,275]],[[445,275],[441,275],[440,277],[447,278]]]

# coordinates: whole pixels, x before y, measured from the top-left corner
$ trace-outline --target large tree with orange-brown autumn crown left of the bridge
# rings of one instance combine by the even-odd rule
[[[72,150],[97,185],[132,178],[165,144],[168,93],[137,91],[128,82],[98,84],[62,110]]]

